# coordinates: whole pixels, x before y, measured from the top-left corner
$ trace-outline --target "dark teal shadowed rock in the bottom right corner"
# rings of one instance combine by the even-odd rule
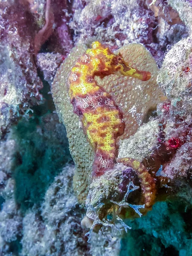
[[[147,215],[134,221],[127,220],[126,224],[131,226],[131,235],[129,233],[122,238],[120,255],[131,255],[133,252],[134,255],[151,256],[173,253],[191,255],[192,239],[186,231],[191,225],[191,204],[186,202],[186,197],[190,194],[191,191],[188,190],[185,196],[157,202]]]

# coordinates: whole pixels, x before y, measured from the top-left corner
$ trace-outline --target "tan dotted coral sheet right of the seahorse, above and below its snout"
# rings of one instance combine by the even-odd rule
[[[156,79],[158,67],[151,53],[141,44],[128,44],[115,52],[123,56],[125,63],[139,70],[148,70],[151,78],[148,81],[134,79],[131,76],[111,74],[103,79],[96,76],[99,86],[103,87],[114,99],[122,111],[125,130],[117,140],[124,140],[133,135],[143,124],[148,113],[154,111],[157,103],[164,98]]]

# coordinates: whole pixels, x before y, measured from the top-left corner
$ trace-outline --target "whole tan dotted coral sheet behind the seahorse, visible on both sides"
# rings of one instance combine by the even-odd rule
[[[127,49],[133,51],[131,59],[129,58]],[[146,58],[146,62],[138,56],[139,50],[142,52],[143,56],[145,56],[144,58]],[[80,202],[84,202],[87,195],[87,187],[89,186],[90,182],[90,172],[92,169],[91,166],[93,162],[93,152],[90,145],[87,143],[87,139],[81,127],[79,127],[78,117],[73,113],[72,105],[69,104],[70,98],[67,93],[66,79],[67,74],[70,71],[70,68],[75,65],[79,57],[79,52],[83,54],[84,51],[85,47],[80,46],[73,49],[73,51],[70,53],[70,55],[66,58],[64,63],[59,68],[52,84],[52,94],[53,99],[55,101],[56,110],[58,113],[61,113],[61,120],[64,120],[68,134],[67,136],[69,138],[70,151],[77,167],[77,172],[74,177],[74,189],[75,191],[78,191],[78,197]],[[156,104],[161,100],[163,93],[161,92],[160,89],[158,89],[157,84],[155,82],[155,77],[157,76],[158,70],[157,65],[152,56],[150,55],[150,53],[143,46],[141,46],[140,44],[131,44],[130,46],[122,48],[122,50],[120,49],[119,52],[122,54],[122,57],[125,59],[125,61],[130,63],[130,66],[132,65],[134,67],[138,67],[139,69],[149,70],[150,73],[152,74],[152,78],[150,79],[151,83],[149,82],[150,80],[148,82],[138,82],[138,79],[126,77],[125,79],[122,79],[122,77],[119,77],[117,75],[106,76],[103,79],[95,77],[99,87],[103,87],[104,90],[112,96],[112,98],[114,97],[116,105],[119,106],[119,108],[121,108],[122,110],[124,110],[123,113],[127,113],[127,116],[129,118],[125,118],[126,127],[124,134],[125,137],[128,137],[130,136],[131,133],[133,134],[137,130],[139,125],[141,125],[144,116],[147,115],[148,111],[151,110],[151,108],[156,107]],[[117,92],[119,93],[119,87],[121,86],[118,86],[118,83],[120,83],[121,85],[123,83],[124,87],[131,87],[132,85],[131,93],[135,92],[135,97],[132,98],[133,101],[130,103],[130,105],[128,105],[127,103],[127,99],[131,95],[130,91],[125,88],[124,90],[122,89],[124,94],[122,94],[121,91],[121,94],[117,95]],[[139,90],[146,88],[145,93],[147,93],[149,96],[144,101],[145,105],[142,105],[143,101],[141,101],[139,97],[140,95],[142,96],[142,94],[137,93],[137,90],[135,90],[136,86],[138,86]],[[154,97],[153,94],[154,90],[156,90],[156,97]],[[126,95],[127,97],[125,97]],[[136,97],[138,98],[138,105],[134,105]],[[131,113],[128,113],[127,110],[130,110]],[[141,113],[137,113],[136,111],[141,111]],[[134,123],[131,123],[133,121]],[[77,134],[79,135],[77,136]],[[81,138],[81,140],[79,140],[79,138]],[[85,153],[82,153],[82,148],[84,148]]]

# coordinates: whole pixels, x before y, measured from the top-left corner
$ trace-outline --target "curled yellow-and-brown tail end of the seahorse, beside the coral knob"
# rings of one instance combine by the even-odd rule
[[[155,182],[154,178],[145,169],[145,166],[132,158],[119,158],[118,163],[123,163],[126,166],[133,168],[140,179],[141,189],[145,201],[145,208],[150,208],[154,204],[155,199]]]

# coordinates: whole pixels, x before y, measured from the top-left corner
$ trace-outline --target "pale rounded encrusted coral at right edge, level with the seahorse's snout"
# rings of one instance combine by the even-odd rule
[[[192,38],[184,38],[175,44],[166,54],[157,83],[165,91],[172,105],[182,101],[183,108],[191,111],[192,108]]]

